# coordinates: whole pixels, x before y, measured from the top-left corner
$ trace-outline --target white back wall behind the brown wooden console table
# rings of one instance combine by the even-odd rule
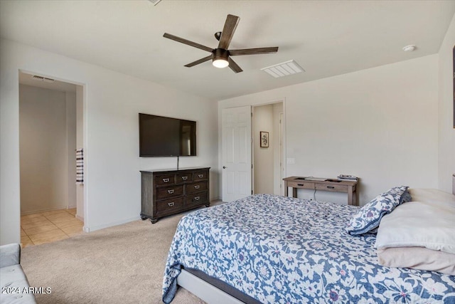
[[[285,100],[285,150],[295,159],[287,176],[357,175],[363,205],[399,184],[438,187],[437,61],[425,56],[221,100],[218,113]],[[316,199],[346,201],[324,195]]]

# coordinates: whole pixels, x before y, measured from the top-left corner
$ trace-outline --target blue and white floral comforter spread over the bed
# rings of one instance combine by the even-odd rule
[[[196,268],[262,303],[455,303],[455,277],[387,268],[375,234],[350,236],[358,207],[258,194],[184,216],[163,281]]]

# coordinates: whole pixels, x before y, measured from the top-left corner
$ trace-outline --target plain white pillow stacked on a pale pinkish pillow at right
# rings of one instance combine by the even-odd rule
[[[418,198],[422,193],[429,196],[432,193],[434,198],[414,201],[414,196]],[[455,253],[455,196],[446,196],[439,190],[410,194],[413,201],[382,217],[376,248],[417,246]]]

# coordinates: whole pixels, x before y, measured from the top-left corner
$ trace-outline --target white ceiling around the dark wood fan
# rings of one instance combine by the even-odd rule
[[[0,1],[1,38],[223,100],[350,73],[439,51],[455,1]],[[243,69],[214,68],[198,48],[215,48],[227,14],[240,16],[235,48],[279,46],[235,56]],[[417,45],[413,52],[403,46]],[[294,59],[305,73],[272,78],[260,68]]]

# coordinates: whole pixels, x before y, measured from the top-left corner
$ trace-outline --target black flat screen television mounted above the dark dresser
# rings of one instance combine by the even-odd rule
[[[139,113],[139,156],[196,156],[196,122]]]

